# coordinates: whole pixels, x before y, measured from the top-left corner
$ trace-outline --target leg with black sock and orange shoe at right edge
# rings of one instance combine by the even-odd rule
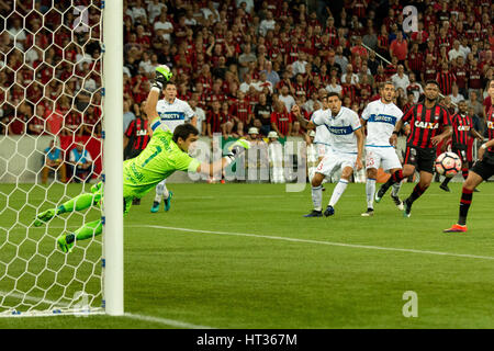
[[[472,204],[473,192],[483,180],[490,179],[494,174],[494,166],[484,161],[478,161],[469,172],[469,177],[461,189],[460,210],[458,222],[445,233],[467,231],[467,216]]]

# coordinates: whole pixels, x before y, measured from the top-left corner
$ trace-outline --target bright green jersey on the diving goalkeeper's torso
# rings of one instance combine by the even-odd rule
[[[166,126],[154,128],[146,148],[137,157],[124,161],[124,197],[143,197],[177,170],[197,171],[199,160],[182,151],[172,140],[172,136]]]

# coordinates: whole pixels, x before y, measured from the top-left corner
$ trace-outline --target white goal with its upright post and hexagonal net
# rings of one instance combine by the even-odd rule
[[[121,316],[124,314],[123,0],[53,1],[50,7],[36,0],[19,3],[11,1],[0,7],[4,27],[0,39],[9,38],[7,44],[0,43],[0,317]],[[14,18],[21,20],[14,23]],[[31,25],[31,20],[37,26]],[[61,44],[57,35],[64,31],[70,34]],[[91,58],[86,52],[88,43],[94,44],[92,47],[98,47],[101,55]],[[66,55],[71,45],[77,48],[77,59],[76,55]],[[57,54],[52,55],[52,50]],[[33,55],[36,64],[31,59]],[[57,60],[52,60],[53,57]],[[85,60],[90,63],[82,66],[86,71],[77,68]],[[16,61],[20,65],[11,67]],[[43,76],[45,67],[53,69],[52,77]],[[64,67],[70,68],[64,71]],[[31,79],[23,81],[25,77]],[[89,84],[91,77],[98,82],[93,89]],[[50,90],[52,83],[58,84],[58,93]],[[34,86],[41,87],[38,100],[31,93]],[[77,89],[70,89],[76,86]],[[76,106],[81,95],[87,103]],[[67,111],[57,110],[63,97],[71,101]],[[60,131],[72,127],[71,134],[63,136],[61,132],[47,127],[48,114],[42,116],[37,110],[45,100],[49,117],[61,115]],[[93,113],[98,107],[101,114],[97,121],[88,122],[88,111]],[[72,123],[69,127],[71,111],[80,115],[80,124]],[[29,128],[36,118],[46,118],[37,134]],[[24,127],[23,133],[11,133],[15,123]],[[97,132],[98,124],[101,134]],[[91,132],[82,138],[76,132],[86,126]],[[67,149],[60,146],[63,138],[69,143]],[[86,151],[91,139],[99,150],[92,155],[94,165],[100,163],[99,177],[91,181],[101,180],[104,188],[101,210],[93,205],[87,212],[55,216],[45,226],[35,227],[34,217],[41,212],[59,206],[79,192],[90,192],[91,188],[85,182],[81,188],[65,184],[61,180],[65,176],[57,180],[61,168],[45,166],[48,143],[53,140],[54,147],[63,149],[63,155],[66,152],[63,159],[67,162],[68,145],[81,143]],[[54,173],[54,180],[45,184],[48,173]],[[101,218],[102,235],[77,245],[72,253],[63,253],[57,237],[89,218]]]

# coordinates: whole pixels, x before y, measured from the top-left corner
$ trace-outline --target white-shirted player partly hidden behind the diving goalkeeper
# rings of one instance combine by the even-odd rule
[[[189,103],[183,100],[177,99],[177,87],[172,82],[167,82],[164,87],[164,95],[162,100],[159,100],[156,105],[156,112],[160,117],[160,127],[168,127],[171,133],[173,133],[175,128],[178,125],[183,123],[190,123],[193,126],[197,124],[197,116]],[[153,206],[150,212],[156,213],[159,211],[159,205],[161,201],[165,199],[165,211],[170,210],[171,197],[173,193],[168,191],[166,185],[167,180],[162,180],[158,185],[156,185],[156,195],[155,201],[153,202]]]

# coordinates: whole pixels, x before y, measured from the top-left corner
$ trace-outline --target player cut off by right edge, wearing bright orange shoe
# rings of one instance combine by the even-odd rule
[[[487,92],[491,99],[494,99],[494,79],[487,84]],[[473,165],[469,177],[461,189],[460,211],[458,222],[451,228],[445,229],[445,233],[465,233],[467,216],[472,204],[473,191],[482,181],[494,176],[494,109],[491,106],[487,112],[487,138],[479,149],[479,160]]]

